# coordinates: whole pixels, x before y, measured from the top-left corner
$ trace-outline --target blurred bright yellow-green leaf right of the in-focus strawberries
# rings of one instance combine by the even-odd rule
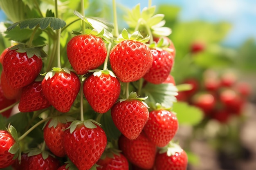
[[[173,104],[173,111],[177,113],[179,124],[196,125],[200,123],[204,117],[202,110],[195,106],[191,106],[186,102],[177,102]]]

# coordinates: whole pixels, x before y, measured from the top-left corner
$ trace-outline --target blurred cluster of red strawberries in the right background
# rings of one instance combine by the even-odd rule
[[[184,83],[192,88],[179,92],[177,99],[202,109],[205,119],[215,119],[223,124],[243,113],[251,94],[249,83],[239,81],[231,71],[206,70],[201,81],[189,78]]]

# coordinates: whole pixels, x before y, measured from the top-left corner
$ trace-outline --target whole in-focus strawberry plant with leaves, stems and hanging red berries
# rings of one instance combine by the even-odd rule
[[[178,115],[190,110],[196,123],[201,112],[176,113],[177,92],[190,87],[175,85],[171,28],[151,3],[128,9],[120,29],[115,0],[113,18],[89,15],[89,0],[0,2],[0,168],[162,170]],[[175,155],[164,165],[177,168]]]

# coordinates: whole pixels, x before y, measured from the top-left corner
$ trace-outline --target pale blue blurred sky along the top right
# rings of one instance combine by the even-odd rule
[[[148,6],[148,0],[116,1],[130,8],[138,3],[141,7]],[[230,22],[233,27],[224,40],[225,44],[239,46],[248,38],[256,40],[256,0],[152,0],[152,5],[163,2],[181,7],[181,21]],[[4,13],[0,11],[0,21],[3,20]]]

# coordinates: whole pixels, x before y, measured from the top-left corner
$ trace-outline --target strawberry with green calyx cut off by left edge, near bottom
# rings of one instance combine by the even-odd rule
[[[0,168],[6,168],[15,162],[18,156],[17,131],[10,126],[7,130],[0,130]],[[13,135],[15,136],[13,136]]]

